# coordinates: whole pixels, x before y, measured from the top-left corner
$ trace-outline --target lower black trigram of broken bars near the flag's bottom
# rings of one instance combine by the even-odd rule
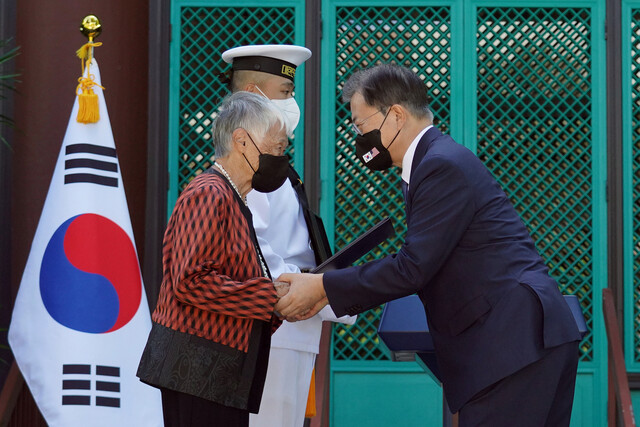
[[[92,384],[94,383],[95,384]],[[92,387],[93,385],[93,387]],[[62,404],[91,405],[95,396],[96,406],[120,407],[120,368],[95,366],[95,381],[91,365],[62,365]]]

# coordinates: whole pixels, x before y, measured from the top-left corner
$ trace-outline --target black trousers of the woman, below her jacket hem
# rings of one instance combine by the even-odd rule
[[[165,427],[247,427],[249,411],[161,388]]]

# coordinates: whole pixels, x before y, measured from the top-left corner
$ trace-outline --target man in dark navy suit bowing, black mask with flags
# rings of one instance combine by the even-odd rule
[[[580,335],[506,194],[482,162],[432,126],[424,83],[379,65],[345,84],[356,154],[402,168],[400,251],[324,275],[284,274],[276,305],[303,319],[330,303],[357,314],[406,295],[422,300],[444,393],[461,426],[568,426]]]

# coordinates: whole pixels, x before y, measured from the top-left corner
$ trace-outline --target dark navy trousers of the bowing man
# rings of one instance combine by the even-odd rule
[[[459,426],[569,426],[578,344],[551,348],[542,359],[481,390],[460,409]]]

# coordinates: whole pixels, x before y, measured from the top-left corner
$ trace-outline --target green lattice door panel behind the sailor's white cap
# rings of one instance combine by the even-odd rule
[[[211,123],[229,91],[218,75],[230,67],[222,52],[244,44],[304,45],[304,0],[174,0],[171,4],[169,91],[169,194],[178,194],[213,159]],[[296,99],[304,105],[304,64],[295,78]],[[302,108],[302,107],[301,107]],[[304,111],[296,135],[304,134]],[[304,147],[289,147],[303,174]],[[298,146],[298,149],[295,149]]]

